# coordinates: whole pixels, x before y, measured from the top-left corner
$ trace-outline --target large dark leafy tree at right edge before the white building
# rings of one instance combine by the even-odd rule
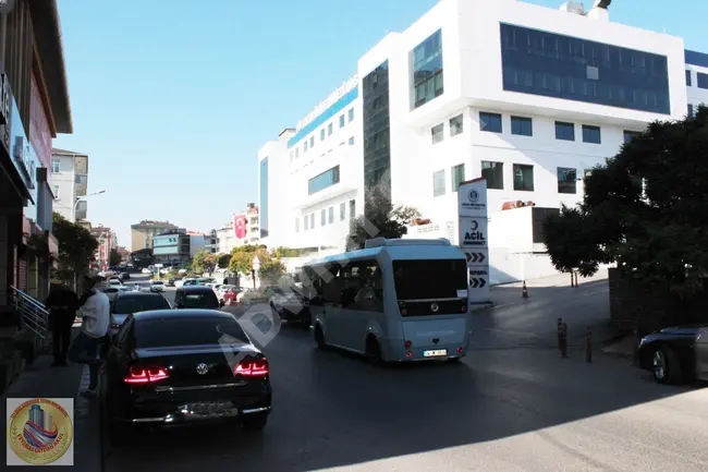
[[[708,273],[708,107],[654,122],[585,178],[577,208],[544,225],[559,270],[595,274],[602,263],[640,283],[666,282],[680,298]]]

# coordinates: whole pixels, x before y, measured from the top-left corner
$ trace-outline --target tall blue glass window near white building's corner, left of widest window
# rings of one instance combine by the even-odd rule
[[[442,31],[438,29],[411,51],[413,94],[411,108],[442,95]]]

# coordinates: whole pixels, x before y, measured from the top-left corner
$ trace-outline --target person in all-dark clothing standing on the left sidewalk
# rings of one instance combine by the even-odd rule
[[[52,283],[45,306],[49,310],[49,329],[52,334],[54,351],[52,365],[66,365],[71,327],[78,310],[78,295],[60,283]]]

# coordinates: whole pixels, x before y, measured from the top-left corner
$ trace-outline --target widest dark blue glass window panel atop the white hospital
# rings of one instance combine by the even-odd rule
[[[500,34],[504,90],[671,113],[664,56],[503,23]]]

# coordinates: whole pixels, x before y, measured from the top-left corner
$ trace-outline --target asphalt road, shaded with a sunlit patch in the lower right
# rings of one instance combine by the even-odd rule
[[[587,293],[474,315],[476,349],[460,365],[379,370],[283,325],[263,347],[274,399],[260,437],[233,426],[136,436],[107,447],[106,470],[708,470],[705,386],[659,386],[626,360],[586,364],[579,350],[561,360],[545,342],[552,332],[532,329],[607,296]],[[514,342],[522,335],[544,342]]]

